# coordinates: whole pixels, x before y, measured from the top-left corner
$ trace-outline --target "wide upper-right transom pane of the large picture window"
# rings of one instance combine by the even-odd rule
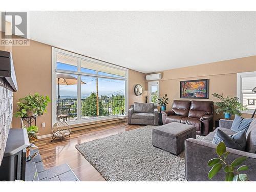
[[[87,60],[81,60],[81,72],[111,76],[111,77],[125,77],[125,71],[116,69],[99,63],[89,62]]]

